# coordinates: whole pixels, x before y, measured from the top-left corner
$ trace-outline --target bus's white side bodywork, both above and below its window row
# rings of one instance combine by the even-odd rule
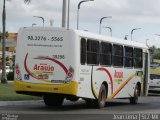
[[[147,47],[137,42],[131,43],[130,41],[122,41],[110,37],[95,36],[94,34],[91,35],[88,35],[86,33],[84,34],[78,33],[78,34],[81,38],[86,38],[89,40],[92,39],[99,42],[103,41],[111,44],[119,44],[133,48],[140,48],[142,49],[143,52],[148,53]],[[80,39],[78,41],[80,41]],[[144,57],[143,60],[145,60]],[[107,96],[109,99],[112,99],[112,98],[130,98],[131,96],[134,96],[134,90],[136,84],[140,83],[141,87],[143,87],[143,81],[144,81],[143,74],[145,70],[144,70],[144,65],[142,68],[137,69],[133,67],[124,68],[124,67],[85,64],[85,65],[80,65],[79,71],[80,71],[79,72],[80,89],[78,89],[79,96],[97,99],[102,83],[106,82],[108,84]],[[138,73],[141,74],[139,75]]]

